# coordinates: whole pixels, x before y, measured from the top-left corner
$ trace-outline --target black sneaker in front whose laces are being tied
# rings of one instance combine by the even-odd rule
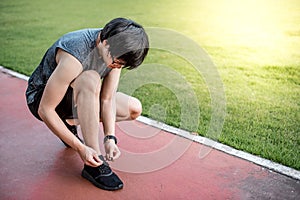
[[[96,187],[103,190],[112,191],[123,188],[123,182],[111,170],[107,162],[103,162],[103,164],[99,167],[84,165],[81,176],[92,182]]]

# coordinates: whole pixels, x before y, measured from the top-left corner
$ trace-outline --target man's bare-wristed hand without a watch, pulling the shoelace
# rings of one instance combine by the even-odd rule
[[[86,145],[83,145],[83,148],[78,150],[78,153],[81,159],[83,160],[84,164],[86,165],[89,165],[91,167],[98,167],[103,163],[98,157],[97,152]]]

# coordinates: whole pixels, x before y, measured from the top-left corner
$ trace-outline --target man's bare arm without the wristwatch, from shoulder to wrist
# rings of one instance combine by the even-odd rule
[[[67,129],[55,108],[63,99],[72,80],[81,73],[82,65],[76,58],[62,50],[58,50],[56,62],[58,65],[46,84],[38,112],[55,135],[78,150],[80,147],[83,148],[81,142]]]

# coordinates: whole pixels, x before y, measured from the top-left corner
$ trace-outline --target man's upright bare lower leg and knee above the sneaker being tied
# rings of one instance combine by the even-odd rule
[[[78,121],[85,144],[101,155],[99,146],[99,95],[101,80],[95,71],[85,71],[72,84]]]

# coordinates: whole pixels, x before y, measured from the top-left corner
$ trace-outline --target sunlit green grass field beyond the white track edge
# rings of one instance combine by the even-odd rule
[[[102,27],[115,17],[186,35],[210,55],[223,82],[226,118],[214,139],[300,169],[298,0],[2,0],[0,11],[0,65],[26,75],[62,34]],[[200,110],[199,126],[190,131],[211,137],[211,96],[203,77],[168,51],[151,49],[145,63],[184,77]],[[182,108],[169,88],[149,83],[134,95],[142,100],[143,115],[180,126]]]

